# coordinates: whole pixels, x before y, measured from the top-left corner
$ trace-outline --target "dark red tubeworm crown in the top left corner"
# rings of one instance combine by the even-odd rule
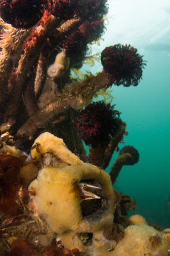
[[[31,28],[40,21],[44,6],[44,0],[0,0],[0,15],[15,28]]]

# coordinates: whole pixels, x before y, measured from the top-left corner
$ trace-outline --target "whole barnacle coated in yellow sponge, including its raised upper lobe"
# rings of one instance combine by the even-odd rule
[[[83,233],[112,225],[114,191],[108,173],[84,164],[66,149],[62,139],[50,133],[40,135],[37,142],[40,153],[34,148],[33,158],[49,151],[61,159],[56,166],[43,167],[29,185],[29,190],[35,191],[31,205],[38,209],[50,229],[58,234]]]

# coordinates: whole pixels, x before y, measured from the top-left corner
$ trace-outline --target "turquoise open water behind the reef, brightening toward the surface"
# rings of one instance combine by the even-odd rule
[[[137,200],[133,214],[170,227],[170,3],[111,0],[109,6],[104,41],[93,46],[93,53],[118,43],[130,44],[147,60],[137,87],[112,86],[112,104],[127,123],[125,145],[134,146],[140,154],[135,166],[123,167],[115,188]],[[90,69],[92,73],[101,70],[100,64]]]

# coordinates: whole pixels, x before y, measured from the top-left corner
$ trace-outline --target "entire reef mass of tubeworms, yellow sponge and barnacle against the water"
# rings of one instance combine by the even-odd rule
[[[170,230],[113,187],[133,146],[112,86],[137,86],[146,63],[130,45],[90,46],[105,30],[106,0],[0,0],[0,255],[167,256]],[[87,155],[84,143],[89,146]],[[120,154],[109,173],[115,151]],[[135,195],[134,195],[135,196]]]

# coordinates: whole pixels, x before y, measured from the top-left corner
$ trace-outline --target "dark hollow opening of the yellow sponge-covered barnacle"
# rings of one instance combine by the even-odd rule
[[[99,217],[102,212],[107,207],[107,199],[104,195],[102,185],[98,182],[98,180],[81,180],[80,183],[87,184],[86,191],[90,192],[92,196],[94,195],[96,198],[87,199],[84,194],[82,194],[81,201],[81,210],[82,216],[84,218],[92,218],[93,214],[95,214],[95,218]],[[92,186],[92,187],[89,187]],[[98,188],[93,188],[98,187]]]

